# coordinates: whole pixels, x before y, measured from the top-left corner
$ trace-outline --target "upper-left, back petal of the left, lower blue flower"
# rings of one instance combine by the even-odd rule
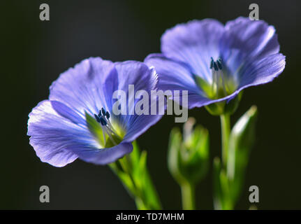
[[[52,83],[49,99],[63,103],[82,117],[85,111],[98,113],[105,107],[103,80],[112,69],[113,63],[100,57],[85,59]]]

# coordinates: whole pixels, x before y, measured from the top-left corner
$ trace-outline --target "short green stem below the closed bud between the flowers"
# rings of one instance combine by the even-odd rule
[[[196,209],[195,202],[195,186],[191,183],[185,182],[181,184],[182,191],[182,207],[184,210]]]

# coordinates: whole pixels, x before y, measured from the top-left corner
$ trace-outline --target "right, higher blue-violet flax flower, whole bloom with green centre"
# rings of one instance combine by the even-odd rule
[[[145,62],[159,73],[160,89],[188,90],[190,109],[229,102],[244,88],[272,81],[285,66],[274,27],[249,18],[176,25],[161,37],[161,52]]]

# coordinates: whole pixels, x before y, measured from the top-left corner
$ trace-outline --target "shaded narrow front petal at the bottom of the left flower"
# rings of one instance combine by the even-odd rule
[[[133,151],[133,146],[130,143],[122,142],[112,148],[91,149],[73,147],[72,151],[77,153],[79,158],[85,162],[92,162],[96,165],[106,165],[131,153],[131,151]]]

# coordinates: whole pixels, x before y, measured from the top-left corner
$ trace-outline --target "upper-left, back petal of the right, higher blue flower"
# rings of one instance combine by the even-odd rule
[[[223,25],[212,19],[180,24],[163,34],[161,51],[166,57],[186,62],[194,74],[210,81],[210,58],[220,55],[219,41],[223,31]]]

